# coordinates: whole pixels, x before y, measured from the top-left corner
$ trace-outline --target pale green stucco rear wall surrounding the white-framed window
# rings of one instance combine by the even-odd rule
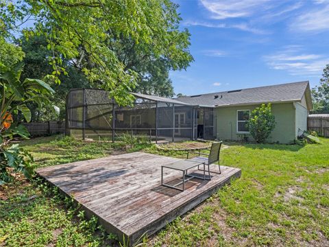
[[[254,106],[230,106],[216,108],[217,112],[217,139],[239,140],[236,132],[236,110],[254,110]],[[271,132],[269,142],[290,143],[295,135],[295,108],[293,103],[272,104],[272,112],[276,117],[276,128]],[[252,139],[250,134],[247,134]]]

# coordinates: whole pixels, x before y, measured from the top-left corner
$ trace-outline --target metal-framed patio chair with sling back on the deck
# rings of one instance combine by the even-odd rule
[[[188,159],[188,154],[197,154],[196,157],[191,158],[191,161],[202,161],[205,163],[205,165],[208,165],[208,172],[210,171],[210,165],[214,164],[218,161],[218,168],[219,168],[219,172],[212,172],[215,174],[221,174],[221,166],[219,165],[219,154],[221,152],[221,143],[223,143],[223,141],[219,141],[216,143],[212,143],[211,147],[210,147],[210,152],[209,154],[205,154],[202,153],[200,150],[199,152],[192,152],[192,151],[188,151],[187,152],[187,159]],[[204,156],[204,157],[202,157]],[[197,169],[199,171],[203,171],[202,169],[199,169],[199,166],[197,166]],[[211,180],[210,174],[209,174],[209,179]]]

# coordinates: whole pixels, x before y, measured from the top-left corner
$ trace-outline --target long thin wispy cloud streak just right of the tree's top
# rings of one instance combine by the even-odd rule
[[[245,32],[252,32],[254,34],[267,34],[267,32],[255,27],[247,25],[247,23],[226,24],[226,23],[209,23],[206,21],[184,21],[186,26],[202,26],[211,28],[234,28]]]

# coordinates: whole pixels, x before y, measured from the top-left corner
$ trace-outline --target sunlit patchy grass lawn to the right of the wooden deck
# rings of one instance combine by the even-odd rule
[[[328,246],[329,139],[321,142],[304,147],[226,143],[230,148],[222,151],[221,164],[241,168],[242,177],[151,243]]]

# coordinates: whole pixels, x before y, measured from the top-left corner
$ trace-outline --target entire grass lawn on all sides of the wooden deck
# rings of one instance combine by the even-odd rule
[[[329,246],[329,139],[319,145],[225,143],[221,164],[242,169],[240,179],[175,220],[145,246]],[[123,147],[45,137],[22,143],[36,167],[156,147]],[[64,207],[40,181],[20,176],[0,189],[0,246],[108,246],[112,235],[96,220]],[[49,196],[53,195],[53,196]]]

